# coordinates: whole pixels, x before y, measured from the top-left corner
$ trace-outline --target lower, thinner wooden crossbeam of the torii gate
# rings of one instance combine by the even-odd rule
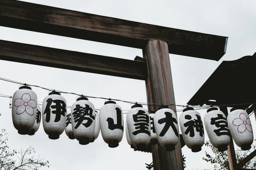
[[[146,62],[4,40],[0,40],[0,60],[140,80],[147,78]]]

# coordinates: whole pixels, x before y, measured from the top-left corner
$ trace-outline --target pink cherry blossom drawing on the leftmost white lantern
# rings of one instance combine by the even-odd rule
[[[16,106],[16,114],[20,115],[24,112],[26,112],[27,114],[29,114],[27,111],[29,110],[33,110],[33,114],[29,114],[31,116],[34,115],[35,113],[35,110],[34,108],[37,108],[37,103],[35,100],[31,100],[31,96],[30,94],[28,93],[24,93],[22,96],[21,96],[21,99],[18,98],[14,101],[14,106]],[[21,109],[21,112],[18,113],[18,108]]]

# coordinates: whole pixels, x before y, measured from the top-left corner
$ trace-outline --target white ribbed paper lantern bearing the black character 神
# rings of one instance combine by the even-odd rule
[[[179,116],[179,126],[186,146],[199,152],[204,145],[204,127],[201,115],[192,107],[185,108]]]

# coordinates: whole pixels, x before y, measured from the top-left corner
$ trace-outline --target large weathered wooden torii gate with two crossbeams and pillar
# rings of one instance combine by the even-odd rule
[[[175,104],[169,53],[218,61],[228,41],[224,36],[16,0],[0,1],[0,26],[142,49],[143,58],[132,61],[0,40],[0,59],[145,80],[147,102],[164,105]],[[172,152],[160,144],[152,146],[152,157],[155,170],[183,169],[180,142]]]

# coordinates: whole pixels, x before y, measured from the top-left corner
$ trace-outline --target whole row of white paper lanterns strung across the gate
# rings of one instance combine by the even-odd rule
[[[245,110],[232,108],[226,118],[222,111],[212,107],[207,110],[204,125],[210,142],[219,151],[227,150],[230,134],[242,150],[251,148],[253,133],[249,116]],[[86,97],[79,97],[67,112],[66,100],[59,92],[50,92],[44,98],[42,112],[37,105],[37,95],[28,86],[22,86],[13,94],[12,120],[22,135],[37,132],[41,115],[43,128],[50,139],[58,139],[64,132],[81,145],[102,137],[109,147],[115,148],[123,138],[123,112],[114,101],[105,102],[99,113]],[[204,144],[204,127],[200,114],[192,107],[185,108],[179,117],[184,142],[193,152]],[[168,106],[158,111],[147,111],[135,104],[127,113],[126,138],[129,145],[146,147],[158,142],[166,151],[172,151],[179,142],[179,127],[176,113]]]

